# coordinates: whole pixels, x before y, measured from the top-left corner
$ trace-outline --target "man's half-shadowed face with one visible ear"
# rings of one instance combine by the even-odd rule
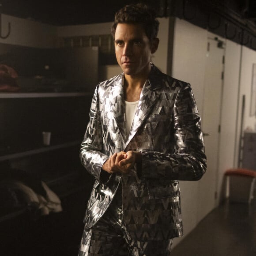
[[[115,33],[117,62],[125,75],[139,77],[150,71],[151,53],[158,43],[151,44],[140,24],[118,23]]]

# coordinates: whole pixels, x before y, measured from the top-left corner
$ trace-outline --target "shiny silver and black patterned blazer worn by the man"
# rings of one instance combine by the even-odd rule
[[[124,74],[99,83],[92,99],[80,149],[83,166],[95,177],[85,226],[90,228],[101,218],[121,185],[123,220],[132,236],[142,239],[148,232],[161,232],[159,239],[181,236],[179,180],[197,181],[206,171],[191,86],[152,64],[126,137],[123,84]],[[110,155],[128,150],[142,153],[138,172],[136,165],[125,175],[102,170]]]

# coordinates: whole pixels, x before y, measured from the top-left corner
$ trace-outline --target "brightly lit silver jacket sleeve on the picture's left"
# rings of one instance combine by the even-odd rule
[[[98,86],[92,98],[89,123],[80,148],[80,160],[87,171],[100,181],[102,165],[109,158],[102,153],[102,127],[100,124]]]

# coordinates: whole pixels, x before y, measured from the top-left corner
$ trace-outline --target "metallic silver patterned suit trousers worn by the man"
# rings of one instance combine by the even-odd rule
[[[108,210],[90,229],[83,230],[79,256],[169,256],[172,239],[134,240],[123,223],[121,186]]]

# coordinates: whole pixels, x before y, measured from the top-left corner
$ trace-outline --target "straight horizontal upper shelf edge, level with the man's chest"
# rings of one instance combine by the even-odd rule
[[[0,93],[0,98],[56,98],[92,96],[92,92],[33,92],[33,93]]]

